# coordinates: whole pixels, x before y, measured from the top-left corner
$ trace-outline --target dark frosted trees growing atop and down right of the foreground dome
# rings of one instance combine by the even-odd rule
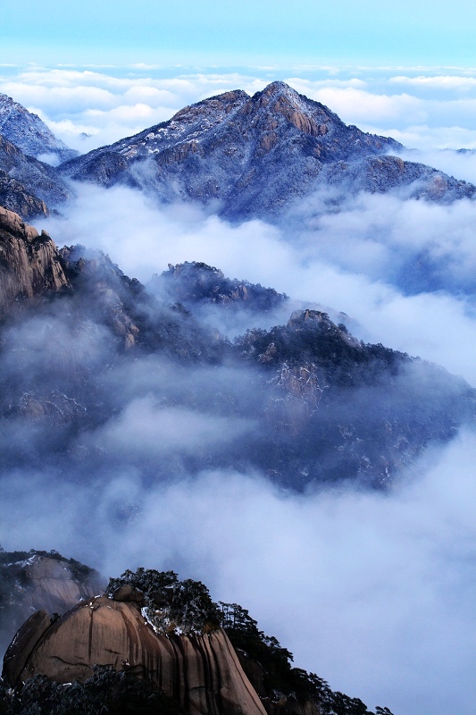
[[[265,635],[246,609],[238,603],[214,603],[200,581],[180,581],[173,571],[138,568],[110,579],[107,592],[113,594],[121,585],[144,593],[147,618],[163,634],[207,633],[222,627],[265,708],[272,709],[284,695],[301,705],[311,702],[322,715],[374,715],[358,698],[333,692],[321,677],[293,667],[292,653]],[[377,708],[375,715],[391,712]]]

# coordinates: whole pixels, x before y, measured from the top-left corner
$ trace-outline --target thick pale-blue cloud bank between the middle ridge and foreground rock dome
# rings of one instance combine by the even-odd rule
[[[145,566],[201,579],[297,666],[370,707],[470,715],[475,458],[463,434],[389,494],[300,497],[233,472],[152,488],[128,470],[74,486],[16,473],[0,486],[4,529],[15,548],[88,556],[108,575]]]

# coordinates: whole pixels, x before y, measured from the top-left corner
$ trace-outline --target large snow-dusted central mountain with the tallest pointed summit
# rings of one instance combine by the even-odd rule
[[[388,156],[394,139],[347,126],[284,82],[249,97],[236,90],[187,106],[162,122],[61,165],[65,176],[137,187],[162,202],[197,200],[230,219],[285,211],[316,189],[405,190],[435,201],[473,197],[476,188],[424,164]]]

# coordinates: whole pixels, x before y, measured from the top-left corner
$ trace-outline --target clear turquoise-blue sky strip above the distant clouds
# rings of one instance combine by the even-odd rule
[[[3,0],[2,62],[476,64],[469,0]]]

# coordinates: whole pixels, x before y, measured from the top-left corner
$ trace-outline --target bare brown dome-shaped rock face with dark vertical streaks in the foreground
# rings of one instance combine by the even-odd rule
[[[36,674],[84,681],[95,664],[153,679],[190,715],[265,713],[224,631],[156,635],[137,601],[105,596],[53,623],[41,612],[30,618],[5,654],[4,677],[12,686]]]

